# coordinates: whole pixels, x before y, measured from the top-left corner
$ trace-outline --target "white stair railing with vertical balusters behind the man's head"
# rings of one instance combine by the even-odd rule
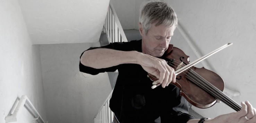
[[[108,13],[104,23],[104,31],[108,37],[109,43],[128,42],[111,2],[109,2]]]

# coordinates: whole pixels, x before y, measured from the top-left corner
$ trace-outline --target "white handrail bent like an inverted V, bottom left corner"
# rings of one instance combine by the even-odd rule
[[[10,116],[5,117],[5,122],[6,123],[16,122],[17,121],[17,116],[22,111],[22,108],[24,107],[24,105],[27,108],[29,108],[29,110],[32,112],[32,114],[34,115],[35,118],[39,119],[40,123],[48,123],[48,122],[44,122],[44,120],[42,119],[42,117],[37,112],[36,108],[34,107],[34,105],[31,103],[31,101],[28,99],[28,97],[26,95],[22,95],[22,97],[20,98],[14,112],[11,112]]]

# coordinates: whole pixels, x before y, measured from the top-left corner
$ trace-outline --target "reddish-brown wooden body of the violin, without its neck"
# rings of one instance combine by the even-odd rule
[[[179,48],[173,47],[171,44],[161,59],[167,61],[174,70],[178,70],[182,66],[189,64],[189,56]],[[149,77],[153,81],[158,80],[151,74],[149,74]],[[205,89],[205,87],[200,87],[204,86],[204,84],[199,82],[198,85],[198,81],[202,80],[207,81],[207,84],[210,83],[214,89],[217,88],[221,92],[224,90],[223,79],[215,72],[207,70],[204,67],[191,67],[190,69],[178,74],[174,85],[180,88],[180,95],[184,96],[190,104],[198,108],[208,108],[216,103],[217,97],[213,96],[214,94],[211,94],[211,92],[207,92],[207,88]]]

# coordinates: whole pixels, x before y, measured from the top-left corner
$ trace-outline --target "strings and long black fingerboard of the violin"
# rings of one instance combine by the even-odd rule
[[[177,62],[177,60],[174,60],[175,62]],[[177,63],[179,63],[180,61],[178,61]],[[181,62],[180,62],[181,63]],[[175,63],[174,63],[175,64]],[[177,64],[175,64],[175,65],[177,65]],[[182,66],[184,67],[184,63],[182,64]],[[191,69],[188,69],[189,71],[193,71],[193,70],[191,70]],[[194,71],[193,71],[194,72]],[[192,72],[192,73],[193,73]],[[183,72],[184,74],[186,74],[185,72]],[[192,75],[190,72],[188,72],[188,74],[190,74],[191,76],[197,76],[195,73],[194,73],[194,75]],[[188,74],[186,74],[188,77],[190,77]],[[197,76],[198,77],[198,76]],[[191,77],[190,77],[191,78]],[[201,77],[198,77],[198,78],[201,78]],[[205,87],[209,92],[211,92],[211,93],[213,93],[213,94],[215,94],[219,99],[221,99],[221,100],[223,100],[223,101],[225,101],[226,103],[228,103],[228,104],[230,104],[230,106],[231,107],[233,107],[233,108],[236,108],[237,109],[237,111],[239,111],[240,110],[240,106],[238,105],[238,104],[236,104],[236,103],[234,103],[234,101],[230,98],[228,98],[227,97],[227,95],[224,95],[224,93],[222,92],[222,91],[220,91],[219,89],[216,89],[216,88],[214,88],[212,85],[210,85],[208,82],[206,82],[206,81],[204,81],[204,80],[199,80],[198,78],[196,78],[198,81],[200,81],[200,82],[198,82],[198,81],[196,81],[195,79],[193,79],[193,78],[191,78],[191,79],[193,79],[193,80],[195,80],[199,85],[201,85],[201,86],[203,86],[203,85],[205,85],[205,86],[203,86],[203,87]],[[203,81],[203,82],[202,82]],[[203,85],[202,85],[203,84]],[[226,97],[226,98],[225,98]]]

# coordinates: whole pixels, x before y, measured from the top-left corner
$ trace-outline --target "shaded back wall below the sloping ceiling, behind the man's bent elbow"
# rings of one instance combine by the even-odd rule
[[[41,44],[41,60],[49,123],[93,123],[111,86],[107,73],[79,71],[79,57],[99,42]]]

